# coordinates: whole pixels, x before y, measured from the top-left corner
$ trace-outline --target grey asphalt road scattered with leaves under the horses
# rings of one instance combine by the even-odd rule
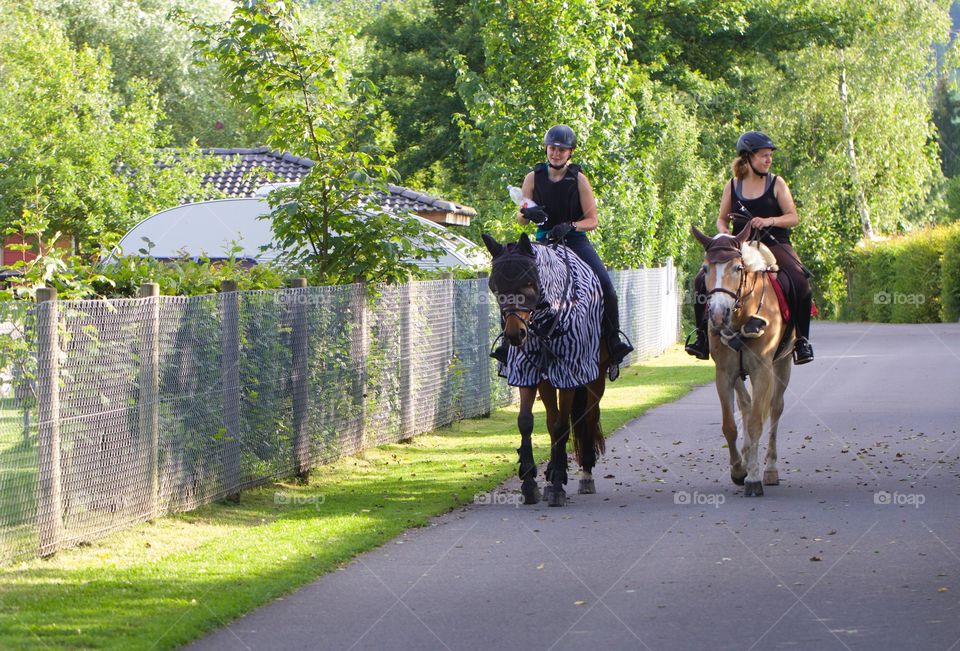
[[[598,494],[449,514],[193,648],[960,649],[960,325],[814,336],[765,497],[704,387],[611,437]]]

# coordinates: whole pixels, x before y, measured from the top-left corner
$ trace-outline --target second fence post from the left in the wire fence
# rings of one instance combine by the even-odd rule
[[[147,299],[140,341],[140,444],[146,452],[141,463],[148,477],[147,519],[153,520],[160,496],[160,285],[143,283],[140,298]]]

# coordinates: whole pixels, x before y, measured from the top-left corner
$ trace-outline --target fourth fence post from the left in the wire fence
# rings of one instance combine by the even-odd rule
[[[293,368],[290,380],[293,393],[293,467],[297,476],[306,481],[310,475],[310,383],[308,355],[310,333],[307,329],[307,279],[291,278],[291,289],[304,291],[288,294],[290,310],[290,352]]]

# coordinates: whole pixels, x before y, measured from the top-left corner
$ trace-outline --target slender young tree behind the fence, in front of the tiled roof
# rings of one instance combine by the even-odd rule
[[[415,219],[381,205],[390,132],[376,88],[342,63],[342,30],[321,33],[282,0],[249,0],[226,22],[189,24],[267,142],[314,161],[297,187],[270,196],[283,262],[334,284],[402,280],[412,260],[437,255]]]

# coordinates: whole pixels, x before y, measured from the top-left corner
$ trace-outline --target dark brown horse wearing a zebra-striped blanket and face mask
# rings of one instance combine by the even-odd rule
[[[516,244],[502,245],[488,235],[483,241],[493,256],[490,290],[500,305],[503,337],[510,343],[500,374],[520,389],[517,452],[524,503],[540,501],[531,441],[533,402],[539,390],[550,432],[543,496],[550,506],[563,506],[571,427],[581,468],[578,492],[596,492],[591,472],[604,451],[600,398],[607,350],[600,345],[600,283],[564,246],[531,244],[526,234]]]

